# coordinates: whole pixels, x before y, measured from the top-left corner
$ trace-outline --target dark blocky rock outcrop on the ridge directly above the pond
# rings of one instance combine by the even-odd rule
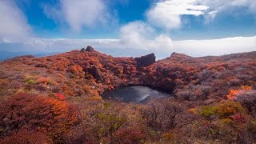
[[[135,60],[137,61],[138,66],[150,66],[154,64],[155,56],[154,56],[154,53],[151,53],[151,54],[142,56],[141,58],[135,58]]]

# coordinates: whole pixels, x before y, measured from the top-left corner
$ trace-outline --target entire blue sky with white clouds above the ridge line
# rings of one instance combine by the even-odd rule
[[[190,56],[256,50],[255,0],[0,0],[0,50]]]

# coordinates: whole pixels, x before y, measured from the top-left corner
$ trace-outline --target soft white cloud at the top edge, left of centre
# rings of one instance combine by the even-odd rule
[[[44,5],[43,10],[49,18],[64,20],[76,32],[83,26],[98,26],[110,20],[103,0],[59,0],[59,6]]]

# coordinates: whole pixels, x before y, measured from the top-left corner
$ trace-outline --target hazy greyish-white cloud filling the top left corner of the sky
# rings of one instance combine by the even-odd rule
[[[3,41],[26,37],[30,29],[26,17],[13,1],[0,1],[0,38]]]

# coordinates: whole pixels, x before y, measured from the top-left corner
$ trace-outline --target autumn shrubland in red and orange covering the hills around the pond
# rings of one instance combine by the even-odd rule
[[[0,143],[256,142],[256,52],[154,62],[89,47],[0,62]],[[173,98],[104,102],[105,90],[151,86]]]

